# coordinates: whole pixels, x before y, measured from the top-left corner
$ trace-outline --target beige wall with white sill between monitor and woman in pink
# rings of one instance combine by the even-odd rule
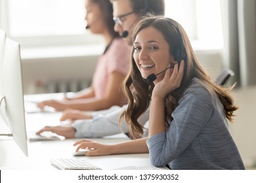
[[[24,93],[47,93],[47,87],[54,82],[88,85],[102,50],[103,44],[22,48]]]

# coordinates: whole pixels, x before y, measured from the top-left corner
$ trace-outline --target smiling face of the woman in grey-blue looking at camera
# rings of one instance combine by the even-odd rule
[[[169,44],[162,33],[154,27],[146,27],[139,31],[133,43],[133,58],[143,78],[152,73],[164,71],[170,63],[175,63],[169,53]],[[156,77],[154,84],[163,79],[165,72]]]

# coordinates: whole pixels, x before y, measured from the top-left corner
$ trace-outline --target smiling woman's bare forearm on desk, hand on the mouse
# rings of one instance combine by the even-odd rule
[[[75,142],[74,146],[77,146],[76,151],[80,149],[93,149],[85,154],[85,156],[106,156],[112,154],[138,154],[148,153],[148,146],[146,140],[148,138],[142,138],[127,142],[121,142],[118,144],[102,144],[88,139]]]

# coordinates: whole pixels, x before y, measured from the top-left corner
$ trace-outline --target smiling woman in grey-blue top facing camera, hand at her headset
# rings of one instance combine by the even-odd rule
[[[148,137],[114,145],[83,139],[77,150],[93,149],[85,156],[149,152],[152,165],[171,169],[245,169],[228,129],[238,108],[232,88],[210,80],[181,25],[162,16],[139,22],[131,65],[122,116],[136,139],[144,132],[138,118],[149,107]]]

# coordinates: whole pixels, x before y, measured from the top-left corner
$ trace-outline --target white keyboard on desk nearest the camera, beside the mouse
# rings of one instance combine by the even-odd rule
[[[61,170],[101,170],[93,165],[93,163],[89,163],[81,158],[53,158],[51,163]]]

